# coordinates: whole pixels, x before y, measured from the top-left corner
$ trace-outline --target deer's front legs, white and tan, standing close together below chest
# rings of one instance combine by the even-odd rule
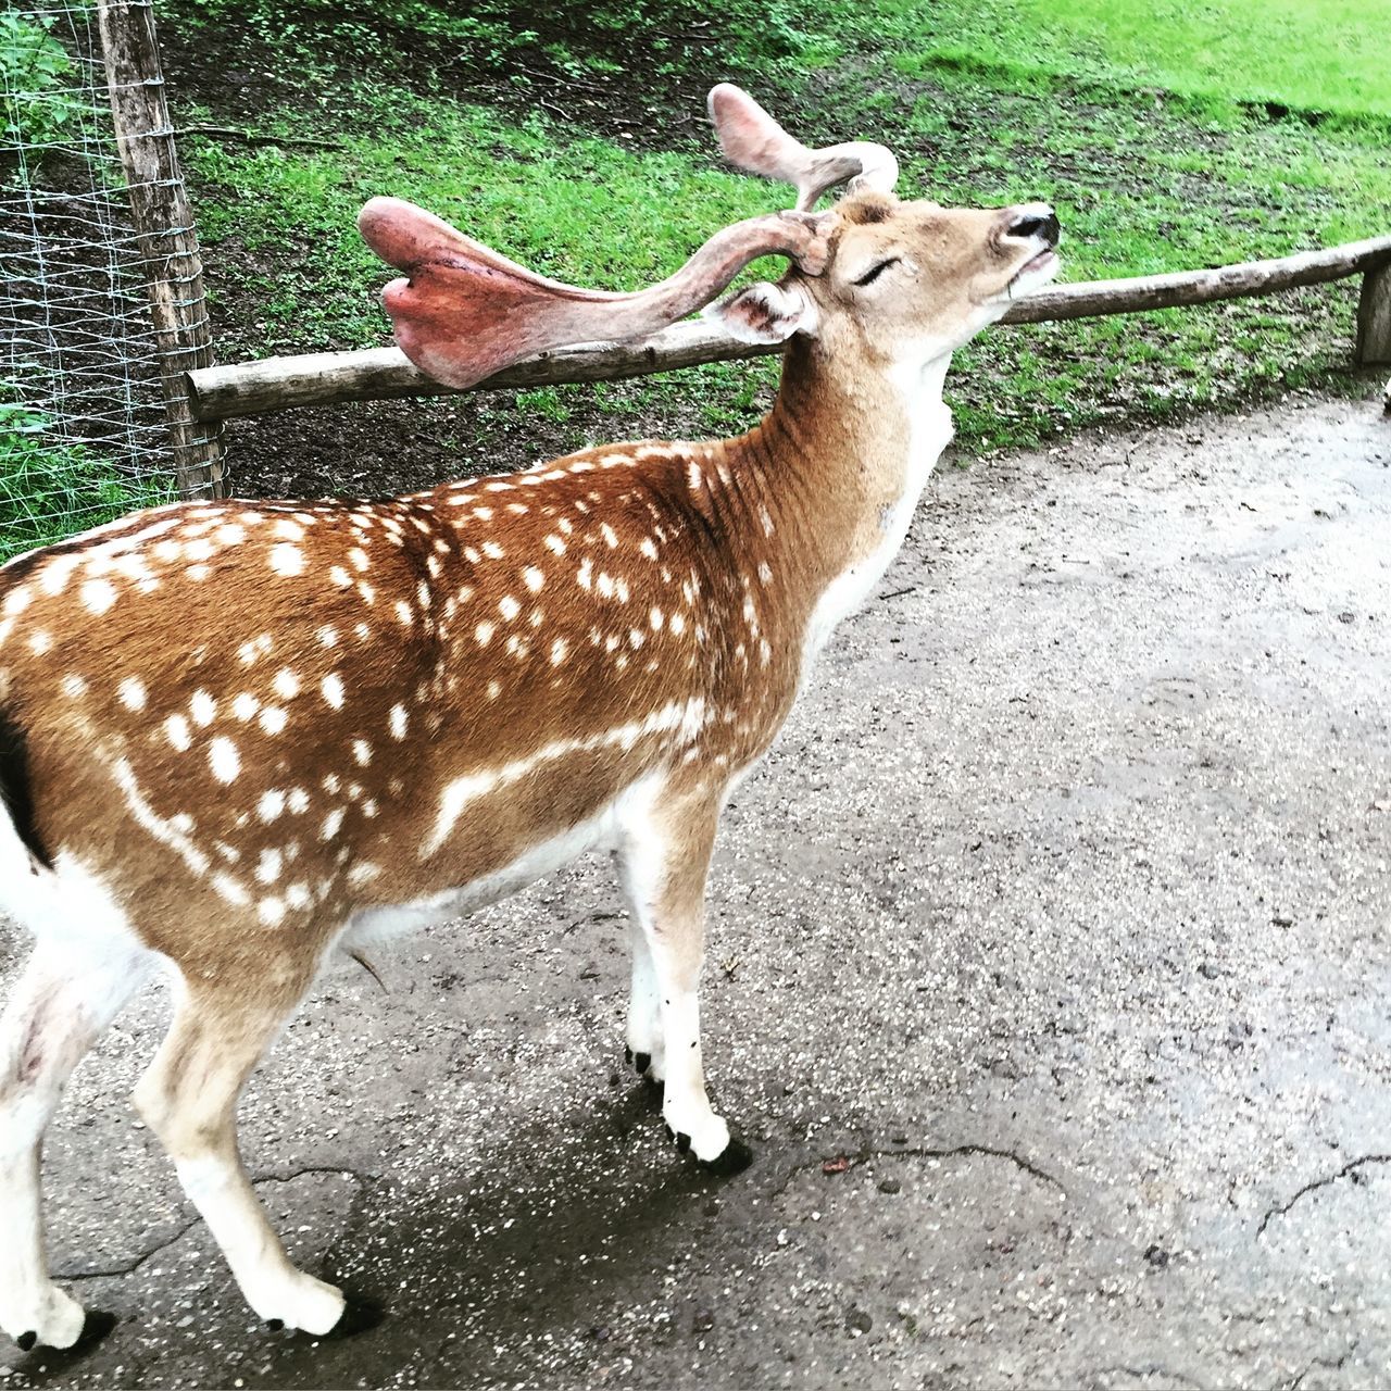
[[[733,1174],[753,1159],[733,1139],[705,1093],[700,1043],[700,974],[705,951],[705,878],[722,801],[705,796],[659,801],[634,818],[622,847],[623,881],[634,931],[634,986],[629,1047],[651,1032],[654,1064],[665,1082],[662,1118],[682,1149],[702,1164]],[[655,993],[655,1027],[648,1000]],[[658,1042],[659,1040],[659,1042]]]

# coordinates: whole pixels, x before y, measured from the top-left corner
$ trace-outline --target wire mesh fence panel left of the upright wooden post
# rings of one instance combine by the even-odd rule
[[[0,120],[3,561],[175,492],[93,4],[0,13]]]

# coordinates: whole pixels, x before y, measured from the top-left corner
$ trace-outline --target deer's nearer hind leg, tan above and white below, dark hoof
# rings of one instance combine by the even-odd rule
[[[273,949],[271,949],[273,950]],[[298,1270],[246,1177],[236,1145],[236,1100],[314,976],[316,961],[263,961],[185,971],[159,1053],[135,1104],[178,1171],[252,1309],[273,1328],[355,1333],[377,1310]]]

